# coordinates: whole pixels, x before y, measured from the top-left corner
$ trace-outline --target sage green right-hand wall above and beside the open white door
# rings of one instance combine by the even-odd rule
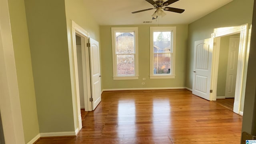
[[[188,25],[188,49],[186,67],[186,87],[192,88],[194,42],[210,38],[214,28],[240,26],[252,23],[254,0],[233,0],[218,10],[192,22]]]

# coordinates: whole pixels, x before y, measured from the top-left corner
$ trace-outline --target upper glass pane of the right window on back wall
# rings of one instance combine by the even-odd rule
[[[154,32],[154,53],[170,53],[171,36],[171,32]]]

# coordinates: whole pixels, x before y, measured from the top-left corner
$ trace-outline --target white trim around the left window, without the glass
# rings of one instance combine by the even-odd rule
[[[135,54],[134,54],[134,69],[135,75],[131,76],[118,76],[117,68],[116,68],[116,32],[134,32],[134,40],[135,40]],[[120,27],[120,28],[111,28],[112,34],[112,61],[113,61],[113,80],[136,80],[139,78],[139,62],[138,62],[138,27]]]

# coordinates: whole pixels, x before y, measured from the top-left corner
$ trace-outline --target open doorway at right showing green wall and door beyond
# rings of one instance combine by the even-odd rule
[[[216,102],[230,110],[234,108],[239,44],[240,33],[220,37]]]

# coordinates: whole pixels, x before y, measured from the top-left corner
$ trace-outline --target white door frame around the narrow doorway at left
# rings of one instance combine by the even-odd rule
[[[70,56],[70,61],[73,66],[70,66],[71,80],[75,82],[74,86],[72,86],[72,100],[75,103],[76,108],[74,111],[74,116],[78,116],[78,118],[74,118],[74,120],[78,119],[78,128],[76,130],[76,134],[82,128],[82,117],[81,117],[81,110],[80,110],[80,94],[79,94],[79,79],[78,79],[78,64],[77,64],[77,53],[76,53],[76,34],[81,37],[81,47],[82,47],[82,58],[85,59],[85,67],[83,63],[83,77],[84,81],[86,81],[86,85],[84,85],[84,92],[87,95],[84,100],[86,101],[84,104],[86,111],[92,110],[92,102],[90,102],[91,98],[91,83],[90,83],[90,59],[89,59],[89,50],[86,47],[86,42],[88,38],[90,38],[88,32],[72,21],[72,55]],[[76,114],[75,114],[76,113]]]

